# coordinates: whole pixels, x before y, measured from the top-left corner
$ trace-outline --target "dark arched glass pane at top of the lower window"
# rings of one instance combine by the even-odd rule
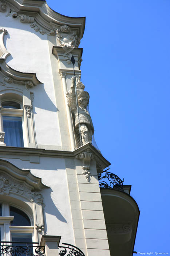
[[[14,219],[11,221],[11,226],[31,226],[31,222],[25,212],[10,206],[10,216],[13,216]]]

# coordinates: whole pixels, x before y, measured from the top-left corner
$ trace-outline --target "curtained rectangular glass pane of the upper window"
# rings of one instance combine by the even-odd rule
[[[24,147],[21,117],[3,116],[6,146]]]

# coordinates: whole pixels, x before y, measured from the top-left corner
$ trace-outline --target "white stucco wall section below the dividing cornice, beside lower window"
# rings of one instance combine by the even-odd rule
[[[44,197],[43,203],[46,205],[44,207],[46,234],[62,236],[60,243],[75,244],[64,159],[40,157],[40,163],[30,163],[15,158],[1,159],[19,168],[30,169],[33,175],[42,178],[44,185],[50,187],[41,191]]]

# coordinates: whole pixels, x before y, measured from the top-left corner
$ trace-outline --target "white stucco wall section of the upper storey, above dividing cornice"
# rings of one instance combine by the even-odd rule
[[[17,71],[36,73],[42,84],[30,89],[34,93],[33,110],[37,144],[61,146],[59,121],[51,71],[47,35],[41,35],[12,17],[0,13],[1,28],[8,31],[4,42],[11,56],[7,63]]]

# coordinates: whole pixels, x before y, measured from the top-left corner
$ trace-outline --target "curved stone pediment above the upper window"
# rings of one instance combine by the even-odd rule
[[[21,84],[29,88],[41,82],[37,79],[36,74],[17,71],[9,67],[5,59],[0,58],[0,85],[5,85],[6,83]]]

